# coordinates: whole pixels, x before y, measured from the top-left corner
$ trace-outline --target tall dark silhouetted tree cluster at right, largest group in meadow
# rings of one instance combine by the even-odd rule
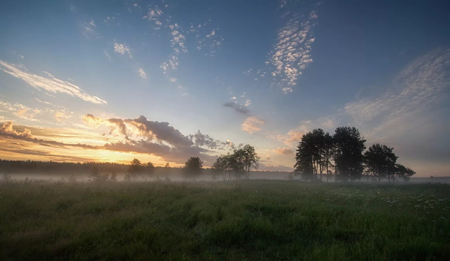
[[[366,139],[356,127],[338,127],[333,135],[314,129],[304,135],[297,146],[294,175],[302,180],[323,180],[334,176],[335,181],[366,178],[380,181],[387,178],[409,180],[415,172],[397,163],[393,148],[373,144],[365,151]]]

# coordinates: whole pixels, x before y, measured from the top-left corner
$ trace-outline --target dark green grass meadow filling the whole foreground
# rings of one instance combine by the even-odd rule
[[[0,186],[2,260],[448,260],[447,184]]]

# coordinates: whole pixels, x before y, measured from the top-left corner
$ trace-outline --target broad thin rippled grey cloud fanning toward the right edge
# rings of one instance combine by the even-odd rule
[[[375,99],[347,103],[343,111],[370,135],[395,131],[396,127],[392,128],[392,125],[399,126],[402,118],[448,100],[449,64],[450,49],[435,49],[410,63],[384,94]],[[390,126],[390,130],[385,126]]]

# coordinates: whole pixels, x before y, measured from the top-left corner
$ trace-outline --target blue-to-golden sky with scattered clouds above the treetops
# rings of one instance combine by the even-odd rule
[[[448,1],[13,1],[0,9],[0,158],[181,166],[356,126],[450,175]]]

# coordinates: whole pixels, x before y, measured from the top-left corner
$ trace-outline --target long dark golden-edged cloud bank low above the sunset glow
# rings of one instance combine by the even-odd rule
[[[0,128],[0,138],[23,140],[43,146],[66,149],[70,147],[78,147],[91,150],[151,154],[162,157],[165,161],[176,163],[184,163],[191,156],[201,157],[202,160],[206,162],[205,166],[211,166],[217,158],[217,156],[207,154],[210,152],[208,149],[194,145],[188,137],[182,135],[173,127],[168,126],[168,123],[166,122],[147,121],[143,116],[134,120],[105,120],[92,115],[85,116],[85,120],[97,122],[102,125],[108,123],[110,126],[117,127],[121,129],[120,131],[124,131],[127,134],[130,132],[128,131],[128,126],[134,125],[139,128],[138,131],[141,131],[141,134],[144,135],[143,139],[131,139],[125,135],[125,138],[122,141],[108,142],[103,145],[68,144],[55,140],[37,138],[31,134],[31,130],[28,128],[25,128],[23,132],[14,130],[13,122],[11,121],[4,123],[3,127]],[[125,121],[127,122],[126,124]],[[123,127],[122,124],[126,126]]]

